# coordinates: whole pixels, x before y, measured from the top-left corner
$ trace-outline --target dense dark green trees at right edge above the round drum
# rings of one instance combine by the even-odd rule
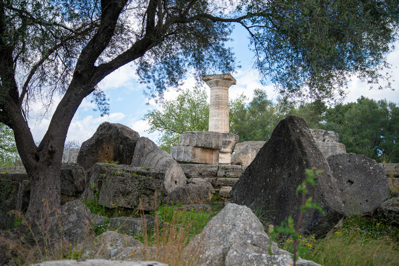
[[[325,120],[323,129],[338,132],[346,152],[399,162],[399,104],[361,96],[329,108]]]

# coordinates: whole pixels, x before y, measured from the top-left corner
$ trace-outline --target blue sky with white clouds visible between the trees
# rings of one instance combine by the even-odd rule
[[[237,73],[233,74],[233,77],[237,80],[237,85],[233,85],[229,89],[229,98],[234,99],[241,93],[244,93],[250,99],[252,98],[252,92],[256,88],[265,89],[269,98],[276,99],[278,96],[274,91],[272,85],[262,86],[259,82],[257,72],[251,70],[251,62],[253,53],[248,49],[249,40],[247,33],[241,26],[237,26],[233,32],[232,38],[234,41],[228,43],[230,47],[233,47],[237,61],[241,61],[241,69],[237,69]],[[369,90],[369,86],[365,83],[361,83],[356,77],[349,83],[350,93],[348,93],[346,102],[354,102],[358,97],[364,95],[371,99],[387,99],[396,103],[399,103],[399,50],[395,50],[388,55],[388,61],[393,65],[393,87],[395,91],[391,90]],[[136,130],[140,136],[145,136],[156,142],[158,140],[158,134],[156,132],[148,134],[145,132],[148,129],[148,124],[142,121],[141,118],[148,110],[153,108],[159,108],[158,104],[154,100],[150,101],[150,105],[145,105],[147,100],[145,99],[142,91],[144,85],[137,83],[135,71],[131,64],[127,64],[117,71],[114,71],[107,76],[100,85],[101,89],[105,91],[107,98],[109,98],[110,104],[110,115],[100,117],[99,112],[94,112],[94,104],[90,103],[90,99],[84,99],[81,106],[78,108],[75,116],[69,126],[67,140],[78,139],[81,142],[90,138],[99,124],[108,121],[111,123],[124,124],[133,130]],[[188,77],[185,81],[183,88],[192,88],[195,85],[193,77]],[[203,88],[208,93],[209,101],[209,88],[203,83]],[[171,100],[176,98],[178,92],[170,90],[165,93],[165,99]],[[53,110],[55,107],[53,107]],[[28,123],[31,128],[33,137],[36,141],[41,140],[47,127],[49,125],[53,110],[51,110],[47,116],[41,120],[37,120],[35,115],[39,113],[40,106],[34,106],[32,108],[31,116]]]

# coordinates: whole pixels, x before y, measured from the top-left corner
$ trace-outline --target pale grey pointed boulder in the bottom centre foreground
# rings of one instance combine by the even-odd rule
[[[188,249],[198,250],[197,265],[293,265],[291,254],[274,242],[271,244],[273,255],[270,256],[270,242],[262,223],[251,209],[230,203],[190,241]],[[319,266],[301,258],[296,265]]]

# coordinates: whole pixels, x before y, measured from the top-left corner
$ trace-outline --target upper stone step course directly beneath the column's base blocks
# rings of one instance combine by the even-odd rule
[[[240,177],[247,165],[179,164],[187,178]]]

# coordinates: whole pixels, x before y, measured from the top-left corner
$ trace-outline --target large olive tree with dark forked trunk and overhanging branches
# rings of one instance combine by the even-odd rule
[[[26,216],[40,219],[43,197],[60,206],[61,160],[69,124],[97,84],[136,65],[149,98],[180,87],[191,72],[234,71],[225,47],[233,24],[251,35],[255,67],[280,92],[329,97],[351,74],[376,83],[397,37],[398,0],[0,0],[0,122],[15,135],[31,179]],[[339,89],[338,89],[338,92]],[[36,146],[29,106],[47,110],[61,95]]]

